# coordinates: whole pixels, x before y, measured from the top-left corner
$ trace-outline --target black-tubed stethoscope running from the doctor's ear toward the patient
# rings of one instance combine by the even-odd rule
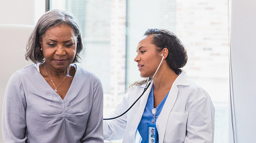
[[[156,72],[159,70],[159,67],[161,66],[161,64],[162,64],[162,62],[163,62],[163,60],[164,60],[164,55],[162,54],[161,55],[162,56],[162,60],[161,60],[161,62],[160,62],[160,64],[159,64],[159,66],[157,67],[157,69],[156,69],[156,71],[155,71],[155,74],[156,74]],[[154,76],[152,77],[152,79],[151,79],[151,82],[153,81],[153,79],[154,79],[154,77],[155,77],[155,74],[154,74]],[[141,95],[133,102],[133,104],[131,104],[131,106],[124,112],[124,113],[122,113],[122,114],[120,114],[120,115],[118,115],[118,116],[115,116],[115,117],[112,117],[112,118],[104,118],[103,120],[113,120],[113,119],[116,119],[116,118],[119,118],[120,116],[122,116],[122,115],[125,115],[125,113],[127,113],[130,109],[131,109],[131,107],[142,97],[142,95],[146,92],[146,90],[149,88],[149,85],[151,84],[151,82],[149,82],[149,77],[148,77],[148,80],[147,80],[147,82],[146,82],[146,86],[144,87],[144,90],[143,90],[143,92],[141,93]]]

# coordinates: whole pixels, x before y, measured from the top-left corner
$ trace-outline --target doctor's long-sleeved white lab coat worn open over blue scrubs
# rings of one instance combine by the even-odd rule
[[[139,143],[137,127],[152,88],[147,91],[128,113],[118,119],[104,121],[104,139],[122,139],[123,143]],[[143,92],[134,86],[127,92],[109,117],[123,113]],[[176,78],[156,121],[159,143],[213,143],[214,106],[208,93],[191,82],[185,72]]]

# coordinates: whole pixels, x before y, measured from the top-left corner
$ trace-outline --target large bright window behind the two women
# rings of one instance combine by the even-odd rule
[[[81,66],[100,77],[104,114],[116,106],[132,82],[141,80],[137,42],[148,28],[176,33],[188,52],[184,67],[205,88],[215,107],[215,143],[227,143],[229,61],[226,0],[52,0],[80,22]]]

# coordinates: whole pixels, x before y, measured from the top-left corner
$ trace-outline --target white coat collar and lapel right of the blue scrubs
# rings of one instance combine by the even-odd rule
[[[178,85],[188,86],[189,84],[190,84],[190,80],[188,79],[184,71],[182,71],[179,77],[177,77],[176,80],[173,82],[172,88],[170,89],[170,92],[163,106],[163,109],[156,121],[156,128],[159,129],[158,130],[159,143],[163,143],[168,117],[178,97],[178,92],[179,92]]]

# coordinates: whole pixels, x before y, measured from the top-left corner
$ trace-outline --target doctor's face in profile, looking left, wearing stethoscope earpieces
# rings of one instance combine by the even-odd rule
[[[137,56],[134,61],[140,71],[141,77],[153,77],[161,62],[160,53],[156,51],[155,44],[152,44],[152,36],[144,36],[137,45]]]

